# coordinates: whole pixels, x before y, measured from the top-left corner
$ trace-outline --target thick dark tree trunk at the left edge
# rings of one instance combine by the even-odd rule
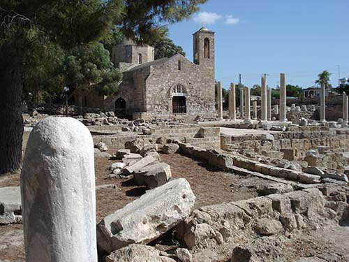
[[[7,61],[0,65],[0,175],[21,168],[23,126],[22,71]]]

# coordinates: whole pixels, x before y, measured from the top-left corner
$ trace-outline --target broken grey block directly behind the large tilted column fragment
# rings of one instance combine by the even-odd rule
[[[133,178],[140,186],[146,186],[147,189],[154,189],[166,184],[171,174],[171,167],[167,163],[155,163],[136,170]]]

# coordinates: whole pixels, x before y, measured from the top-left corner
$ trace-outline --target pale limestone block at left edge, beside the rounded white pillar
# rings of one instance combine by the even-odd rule
[[[22,223],[20,187],[0,187],[0,225]]]

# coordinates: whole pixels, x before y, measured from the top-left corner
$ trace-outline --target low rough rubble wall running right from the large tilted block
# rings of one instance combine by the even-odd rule
[[[333,220],[341,223],[345,210],[348,212],[345,194],[334,201],[319,189],[304,189],[202,207],[176,230],[190,249],[203,249],[225,242],[243,243],[258,235],[315,230]]]

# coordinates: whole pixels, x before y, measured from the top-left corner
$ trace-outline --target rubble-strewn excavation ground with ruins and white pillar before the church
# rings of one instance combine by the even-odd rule
[[[0,177],[1,262],[349,261],[346,126],[25,122],[22,174]]]

